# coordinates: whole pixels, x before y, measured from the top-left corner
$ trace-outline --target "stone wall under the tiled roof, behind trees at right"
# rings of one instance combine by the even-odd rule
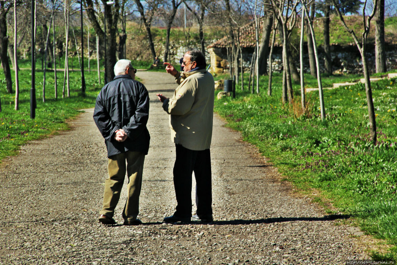
[[[249,70],[251,65],[253,48],[243,49],[243,66]],[[375,47],[374,45],[368,45],[368,66],[370,72],[375,72]],[[229,69],[229,63],[227,62],[227,53],[225,48],[210,48],[210,62],[212,72],[220,74],[227,72]],[[296,51],[295,51],[296,53]],[[282,47],[274,47],[272,56],[272,69],[274,72],[281,72],[283,70],[282,64]],[[318,55],[320,60],[321,72],[324,72],[324,50],[322,47],[318,48]],[[293,55],[293,62],[299,67],[299,54]],[[307,47],[304,48],[304,72],[310,73],[309,58],[307,53]],[[355,45],[342,47],[339,45],[331,46],[331,60],[332,60],[332,71],[334,74],[355,74],[362,72],[362,61],[361,55]],[[387,71],[397,69],[397,45],[386,45],[386,67]]]

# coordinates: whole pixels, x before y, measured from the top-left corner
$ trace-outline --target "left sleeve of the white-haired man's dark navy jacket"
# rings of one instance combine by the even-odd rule
[[[93,118],[94,118],[96,127],[98,127],[103,138],[105,138],[105,140],[108,140],[108,141],[111,140],[114,132],[116,130],[118,130],[119,128],[117,128],[112,123],[112,119],[111,119],[108,111],[106,111],[106,108],[104,107],[104,102],[103,102],[101,93],[96,98]]]

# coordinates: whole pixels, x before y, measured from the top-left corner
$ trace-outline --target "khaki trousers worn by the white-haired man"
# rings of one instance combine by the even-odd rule
[[[125,162],[127,161],[127,167]],[[124,205],[123,218],[133,221],[139,213],[139,195],[142,187],[142,172],[145,154],[142,152],[131,152],[116,154],[108,159],[108,174],[105,179],[105,191],[103,196],[103,207],[99,214],[105,214],[112,218],[114,209],[120,199],[121,188],[127,168],[127,201]]]

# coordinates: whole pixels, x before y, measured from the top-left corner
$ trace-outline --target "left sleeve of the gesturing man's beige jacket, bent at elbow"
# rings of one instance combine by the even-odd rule
[[[164,101],[163,109],[172,115],[186,114],[195,101],[196,87],[195,78],[188,78],[170,100]]]

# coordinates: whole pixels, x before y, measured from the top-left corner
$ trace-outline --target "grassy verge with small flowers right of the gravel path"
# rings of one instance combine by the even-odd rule
[[[318,193],[316,199],[355,216],[362,230],[392,245],[373,258],[397,259],[397,78],[372,83],[378,128],[378,144],[372,146],[363,84],[324,90],[326,121],[321,121],[318,92],[306,94],[308,111],[301,115],[299,85],[294,85],[294,103],[284,105],[280,77],[274,77],[272,96],[263,76],[259,95],[237,86],[236,98],[216,99],[215,110],[298,189]],[[314,78],[306,81],[310,87]]]

